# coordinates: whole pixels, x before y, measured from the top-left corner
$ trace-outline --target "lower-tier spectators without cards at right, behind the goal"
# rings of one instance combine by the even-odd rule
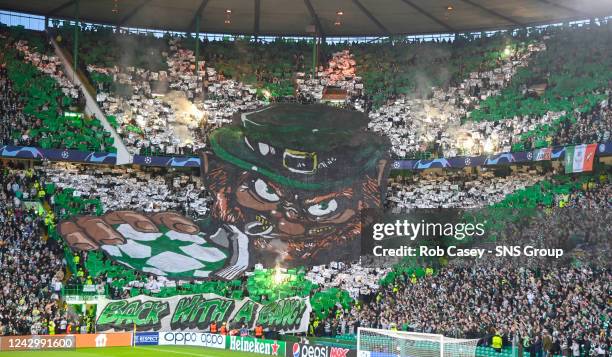
[[[606,174],[591,179],[579,190],[559,195],[555,208],[528,227],[509,223],[506,229],[513,233],[496,241],[562,247],[580,265],[571,259],[492,257],[457,259],[438,274],[419,279],[402,272],[392,284],[365,296],[363,305],[316,322],[315,334],[354,334],[361,326],[485,343],[501,335],[504,345],[515,345],[524,355],[605,355],[601,351],[612,347],[610,188]]]

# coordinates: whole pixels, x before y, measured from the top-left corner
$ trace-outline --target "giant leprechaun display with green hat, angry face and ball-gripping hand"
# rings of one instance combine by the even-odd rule
[[[232,279],[255,263],[354,259],[360,210],[381,206],[388,175],[389,144],[367,132],[367,122],[362,113],[322,105],[237,115],[210,135],[211,150],[202,154],[202,177],[215,197],[210,217],[113,212],[64,222],[60,233],[74,248],[101,248],[169,277]],[[143,250],[137,245],[151,254],[132,259]],[[182,255],[188,259],[174,267]]]

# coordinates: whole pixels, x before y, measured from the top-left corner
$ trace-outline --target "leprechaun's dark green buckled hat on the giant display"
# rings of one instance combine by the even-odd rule
[[[236,114],[210,134],[215,155],[282,185],[318,190],[350,185],[388,159],[387,138],[366,131],[365,114],[327,105],[276,104]]]

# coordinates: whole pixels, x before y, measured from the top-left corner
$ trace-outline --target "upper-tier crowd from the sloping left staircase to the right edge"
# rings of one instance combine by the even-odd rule
[[[304,41],[205,41],[196,68],[193,38],[91,27],[80,66],[132,153],[190,154],[234,113],[323,101],[367,112],[395,157],[478,155],[609,140],[609,26],[324,44],[314,69]]]

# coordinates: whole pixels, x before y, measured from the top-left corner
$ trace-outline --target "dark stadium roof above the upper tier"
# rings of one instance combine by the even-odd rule
[[[612,0],[79,0],[83,21],[146,29],[325,37],[454,33],[612,15]],[[77,0],[0,0],[73,18]],[[228,13],[228,10],[231,13]],[[340,15],[341,13],[341,15]],[[228,23],[229,22],[229,23]]]

